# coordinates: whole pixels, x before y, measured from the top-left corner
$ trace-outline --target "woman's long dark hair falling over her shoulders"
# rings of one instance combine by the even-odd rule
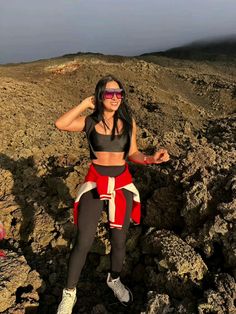
[[[100,122],[102,121],[104,124],[105,128],[109,127],[107,126],[104,118],[103,118],[103,113],[104,113],[104,105],[103,105],[103,94],[105,92],[106,84],[108,82],[113,82],[115,81],[119,87],[122,89],[122,100],[119,108],[115,111],[114,114],[114,124],[112,128],[112,133],[111,133],[111,139],[114,139],[115,137],[115,131],[118,133],[118,126],[117,126],[117,121],[118,119],[121,119],[123,122],[123,132],[122,134],[130,134],[132,132],[132,113],[131,109],[128,106],[127,100],[126,100],[126,93],[123,84],[121,83],[120,80],[118,80],[116,77],[113,75],[107,75],[103,78],[101,78],[95,88],[95,110],[91,114],[91,117],[94,118],[95,121]]]

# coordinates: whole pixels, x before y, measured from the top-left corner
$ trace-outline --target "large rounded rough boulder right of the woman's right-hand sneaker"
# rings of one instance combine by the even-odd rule
[[[173,232],[160,230],[147,234],[142,242],[145,254],[157,256],[157,268],[147,268],[146,284],[160,285],[169,295],[182,297],[199,289],[207,272],[201,256]]]

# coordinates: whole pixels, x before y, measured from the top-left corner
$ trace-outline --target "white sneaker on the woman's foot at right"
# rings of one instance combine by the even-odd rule
[[[133,295],[131,291],[129,288],[123,285],[123,283],[120,281],[120,277],[112,279],[111,274],[108,273],[107,285],[113,290],[114,295],[123,305],[127,306],[133,301]]]

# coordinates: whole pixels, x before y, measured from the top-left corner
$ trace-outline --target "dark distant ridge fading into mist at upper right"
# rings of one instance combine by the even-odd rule
[[[166,51],[145,53],[141,56],[159,55],[177,59],[228,60],[236,59],[236,34],[227,37],[204,39]]]

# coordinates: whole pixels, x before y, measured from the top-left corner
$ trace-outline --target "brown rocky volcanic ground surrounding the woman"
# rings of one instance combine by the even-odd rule
[[[104,213],[73,313],[236,313],[235,62],[95,54],[0,67],[0,312],[56,312],[89,152],[54,121],[108,73],[126,86],[140,150],[166,147],[171,160],[130,164],[143,217],[122,277],[135,302],[124,308],[106,286]]]

